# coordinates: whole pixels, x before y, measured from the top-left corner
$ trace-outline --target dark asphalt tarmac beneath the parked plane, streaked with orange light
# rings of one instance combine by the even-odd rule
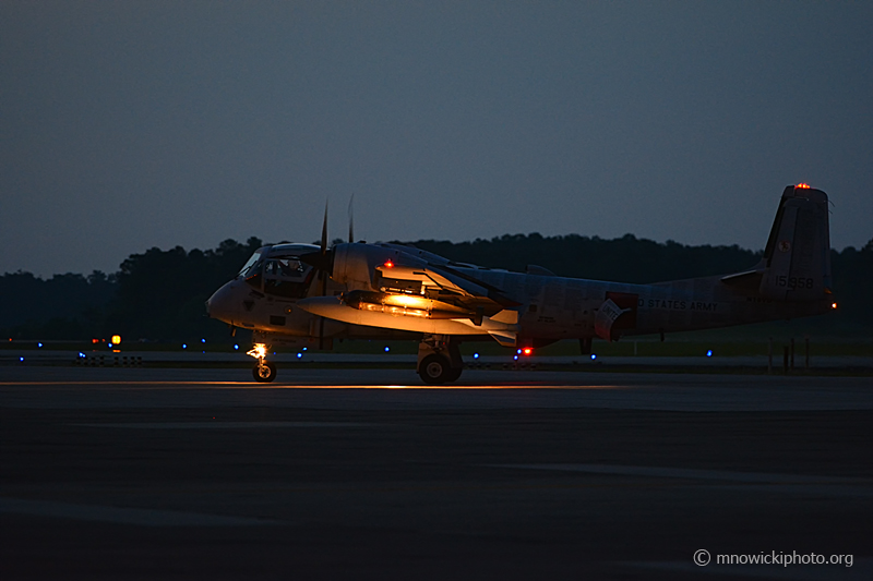
[[[871,425],[869,377],[0,366],[0,579],[871,579]]]

